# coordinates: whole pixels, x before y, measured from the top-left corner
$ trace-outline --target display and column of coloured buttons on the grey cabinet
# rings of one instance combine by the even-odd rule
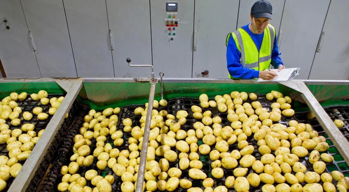
[[[166,2],[166,18],[165,27],[165,35],[169,37],[170,42],[174,42],[174,38],[176,38],[176,28],[178,27],[178,22],[180,19],[178,18],[178,3],[177,1],[167,1]]]

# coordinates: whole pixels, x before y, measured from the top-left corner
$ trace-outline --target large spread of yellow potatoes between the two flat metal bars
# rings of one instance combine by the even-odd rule
[[[247,99],[252,100],[251,104]],[[331,174],[325,172],[326,164],[334,158],[325,152],[329,146],[324,136],[313,131],[311,125],[289,121],[289,125],[277,123],[282,115],[291,117],[291,98],[278,91],[266,95],[272,110],[262,108],[257,95],[238,91],[230,95],[217,95],[209,101],[206,94],[199,97],[200,106],[192,106],[192,116],[196,119],[193,129],[185,131],[181,126],[186,124],[188,111],[180,110],[176,114],[158,111],[159,105],[166,106],[167,101],[154,100],[147,150],[143,191],[174,191],[178,187],[188,192],[203,192],[199,187],[192,187],[189,179],[181,179],[182,170],[188,170],[189,177],[202,181],[205,192],[227,192],[234,187],[237,192],[249,191],[250,187],[262,186],[263,192],[283,191],[326,191],[334,192],[337,182],[339,191],[349,189],[349,178],[339,171]],[[227,113],[230,126],[222,126],[219,116],[212,116],[207,108],[218,108]],[[90,166],[97,158],[97,167],[104,170],[106,166],[121,177],[121,191],[133,192],[138,176],[140,150],[142,148],[144,126],[148,103],[145,109],[136,108],[134,114],[140,117],[140,126],[135,126],[129,118],[123,119],[123,130],[117,130],[119,108],[107,108],[102,113],[90,110],[84,117],[80,134],[74,137],[73,152],[70,163],[61,168],[62,182],[59,191],[93,191],[110,192],[114,177],[104,178],[96,170],[86,170],[85,175],[77,173],[80,167]],[[120,120],[121,121],[121,120]],[[120,122],[121,123],[121,122]],[[128,150],[119,151],[118,146],[124,143],[124,133],[131,133],[128,138]],[[107,137],[113,139],[113,146],[106,143]],[[253,139],[252,139],[253,138]],[[90,149],[91,140],[96,139],[96,148]],[[203,144],[198,146],[198,141]],[[258,149],[248,141],[257,142]],[[237,143],[236,149],[229,151],[229,146]],[[262,155],[256,160],[254,151]],[[309,151],[311,152],[309,154]],[[201,169],[200,155],[210,158],[211,175]],[[307,171],[299,158],[309,157],[313,171]],[[321,160],[320,160],[321,158]],[[178,168],[170,168],[170,163],[178,162]],[[252,173],[247,173],[252,169]],[[224,170],[232,170],[234,176],[225,177]],[[292,173],[295,173],[292,174]],[[224,185],[214,186],[214,179],[224,179]],[[87,186],[91,182],[93,189]],[[323,185],[319,182],[322,181]],[[302,185],[301,185],[302,184]],[[91,185],[90,185],[91,186]]]

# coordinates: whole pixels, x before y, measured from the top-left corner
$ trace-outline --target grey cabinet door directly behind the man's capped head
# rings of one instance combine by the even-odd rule
[[[251,7],[254,2],[256,2],[256,0],[240,0],[237,29],[251,22]],[[270,4],[272,4],[273,7],[273,19],[270,20],[269,23],[274,26],[276,34],[279,34],[280,22],[285,0],[269,0],[269,2]]]

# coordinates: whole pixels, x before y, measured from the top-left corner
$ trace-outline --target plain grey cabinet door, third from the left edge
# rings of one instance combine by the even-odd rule
[[[77,76],[114,77],[105,0],[63,0]]]

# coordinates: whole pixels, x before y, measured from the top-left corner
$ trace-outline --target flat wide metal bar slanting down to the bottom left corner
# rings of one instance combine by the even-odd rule
[[[62,101],[61,105],[53,115],[49,124],[39,141],[35,145],[28,159],[23,164],[21,171],[18,173],[18,176],[12,182],[8,191],[22,192],[25,191],[30,184],[31,179],[34,177],[37,168],[39,167],[40,162],[43,160],[47,149],[50,146],[50,143],[54,139],[59,127],[61,126],[64,117],[66,116],[68,110],[72,106],[77,94],[82,88],[82,78],[70,80],[70,86],[66,84],[66,88],[69,87],[67,95]]]

